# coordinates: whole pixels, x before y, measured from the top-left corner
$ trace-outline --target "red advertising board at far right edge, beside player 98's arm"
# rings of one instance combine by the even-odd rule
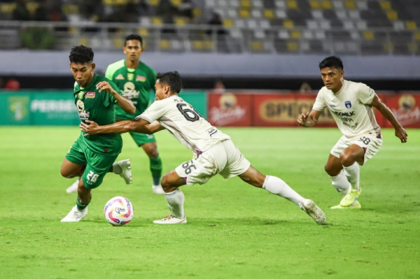
[[[420,128],[420,92],[402,92],[388,96],[386,106],[391,109],[402,127]],[[385,122],[385,127],[393,127],[388,121]]]

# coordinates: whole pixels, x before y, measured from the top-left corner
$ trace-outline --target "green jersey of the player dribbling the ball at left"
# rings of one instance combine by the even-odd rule
[[[76,83],[74,86],[74,103],[76,103],[78,115],[82,122],[92,120],[99,125],[116,122],[117,100],[108,92],[99,92],[97,90],[96,85],[101,81],[107,81],[116,92],[121,94],[118,87],[111,80],[96,74],[92,81],[84,88]],[[97,134],[90,136],[84,136],[84,134],[86,133],[82,131],[80,138],[83,138],[83,142],[87,145],[87,148],[102,156],[118,155],[123,148],[123,139],[120,134]]]

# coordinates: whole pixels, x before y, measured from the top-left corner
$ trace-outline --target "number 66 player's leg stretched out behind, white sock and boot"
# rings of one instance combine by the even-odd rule
[[[295,190],[290,188],[290,186],[280,178],[276,176],[265,176],[253,166],[250,166],[246,172],[239,176],[239,178],[248,184],[266,189],[272,194],[282,196],[283,198],[295,203],[297,206],[302,208],[304,212],[311,216],[318,224],[325,223],[325,214],[320,208],[318,208],[318,206],[316,206],[314,201],[311,201],[310,199],[304,199],[302,196],[300,196],[300,194],[297,194]]]

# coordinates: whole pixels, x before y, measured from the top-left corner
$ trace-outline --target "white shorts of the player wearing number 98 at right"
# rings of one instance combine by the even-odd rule
[[[352,140],[349,140],[346,136],[342,136],[332,147],[330,153],[339,158],[339,155],[344,149],[348,148],[352,144],[356,144],[365,150],[365,161],[363,162],[365,163],[381,149],[382,141],[382,136],[377,136],[375,134],[363,134],[359,138]]]

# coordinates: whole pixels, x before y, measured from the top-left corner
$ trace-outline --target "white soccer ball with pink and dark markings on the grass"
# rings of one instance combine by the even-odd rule
[[[114,196],[104,207],[106,221],[113,226],[124,226],[134,215],[132,203],[124,196]]]

